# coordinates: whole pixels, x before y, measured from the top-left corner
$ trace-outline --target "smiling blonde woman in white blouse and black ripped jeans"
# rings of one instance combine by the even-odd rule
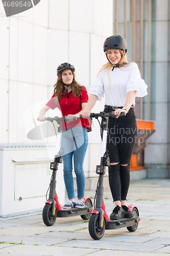
[[[147,84],[141,79],[136,63],[126,58],[127,42],[119,35],[108,37],[104,42],[108,59],[98,77],[91,84],[89,100],[82,116],[89,118],[96,100],[105,94],[104,112],[114,111],[116,118],[109,118],[107,149],[109,151],[109,185],[114,200],[110,219],[133,217],[125,205],[130,184],[130,162],[137,136],[135,97],[147,95]],[[126,116],[119,116],[125,112]]]

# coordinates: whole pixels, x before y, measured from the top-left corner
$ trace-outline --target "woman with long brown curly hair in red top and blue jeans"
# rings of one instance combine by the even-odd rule
[[[57,82],[54,85],[54,94],[50,101],[40,110],[39,121],[45,121],[45,113],[51,108],[59,108],[62,116],[67,116],[67,121],[62,123],[61,147],[64,148],[63,172],[64,182],[68,196],[68,202],[63,208],[83,208],[85,176],[83,161],[88,144],[87,128],[88,119],[78,118],[72,121],[74,116],[79,117],[88,101],[85,87],[75,79],[75,68],[70,63],[64,62],[57,68]],[[75,202],[74,180],[72,177],[72,159],[77,181],[78,200]]]

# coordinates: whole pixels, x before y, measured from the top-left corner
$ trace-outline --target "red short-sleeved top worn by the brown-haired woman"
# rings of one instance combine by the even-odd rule
[[[87,95],[87,90],[84,87],[85,90],[81,90],[81,97],[75,97],[72,94],[72,91],[68,93],[68,98],[65,95],[65,92],[63,92],[60,103],[55,102],[55,94],[53,94],[52,98],[46,103],[46,106],[49,106],[51,109],[59,108],[59,110],[62,113],[62,116],[67,116],[67,115],[75,115],[76,113],[79,113],[82,110],[82,103],[88,101],[88,95]],[[72,122],[63,122],[62,123],[62,130],[72,128],[78,125],[85,126],[89,128],[89,121],[88,119],[85,118],[78,118],[77,120],[74,120]]]

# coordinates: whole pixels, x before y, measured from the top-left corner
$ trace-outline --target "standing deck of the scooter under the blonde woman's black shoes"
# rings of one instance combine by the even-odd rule
[[[128,219],[120,220],[107,220],[105,229],[118,229],[122,227],[130,227],[137,224],[140,221],[139,216],[135,216]]]

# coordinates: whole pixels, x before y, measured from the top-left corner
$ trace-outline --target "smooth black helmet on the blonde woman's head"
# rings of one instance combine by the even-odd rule
[[[112,35],[106,38],[103,50],[106,52],[109,49],[119,49],[127,52],[127,42],[124,37],[120,35]]]

